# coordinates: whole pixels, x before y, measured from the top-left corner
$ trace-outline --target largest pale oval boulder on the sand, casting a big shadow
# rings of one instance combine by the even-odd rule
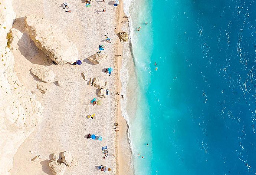
[[[57,64],[74,63],[78,60],[75,44],[51,21],[42,17],[26,16],[25,24],[36,46]]]

